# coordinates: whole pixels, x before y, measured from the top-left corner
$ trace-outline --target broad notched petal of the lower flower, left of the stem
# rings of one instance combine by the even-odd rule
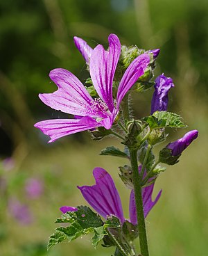
[[[112,177],[103,168],[94,168],[96,184],[94,186],[78,186],[85,200],[101,216],[114,215],[123,223],[121,198],[114,185]]]

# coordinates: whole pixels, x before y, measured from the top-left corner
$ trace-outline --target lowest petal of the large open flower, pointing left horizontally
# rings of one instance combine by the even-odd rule
[[[49,143],[51,143],[63,136],[99,127],[101,124],[96,122],[93,118],[86,116],[82,119],[44,120],[37,122],[34,126],[40,129],[44,134],[50,136],[51,140]]]

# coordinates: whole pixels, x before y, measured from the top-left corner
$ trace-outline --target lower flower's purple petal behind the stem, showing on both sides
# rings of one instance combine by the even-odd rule
[[[142,200],[143,200],[143,209],[144,209],[144,218],[148,215],[149,211],[153,208],[156,202],[159,200],[162,190],[159,191],[157,197],[154,201],[152,201],[154,184],[150,186],[146,186],[142,189]],[[130,222],[133,225],[137,224],[137,210],[135,204],[135,191],[132,189],[130,193],[130,205],[129,205],[129,214],[130,214]]]

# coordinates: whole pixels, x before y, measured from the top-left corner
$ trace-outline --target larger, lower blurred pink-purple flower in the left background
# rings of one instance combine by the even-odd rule
[[[33,216],[27,205],[22,204],[16,198],[8,200],[9,213],[21,224],[28,225],[33,222]]]

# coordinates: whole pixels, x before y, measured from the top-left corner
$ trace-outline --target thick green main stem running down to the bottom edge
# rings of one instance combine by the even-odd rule
[[[148,241],[146,236],[146,225],[144,220],[144,209],[143,209],[143,201],[142,201],[142,193],[141,193],[141,176],[138,171],[138,162],[137,162],[137,150],[129,148],[130,150],[130,158],[132,165],[132,177],[133,184],[135,189],[135,202],[137,209],[137,223],[139,230],[139,244],[141,249],[142,256],[148,256]]]

